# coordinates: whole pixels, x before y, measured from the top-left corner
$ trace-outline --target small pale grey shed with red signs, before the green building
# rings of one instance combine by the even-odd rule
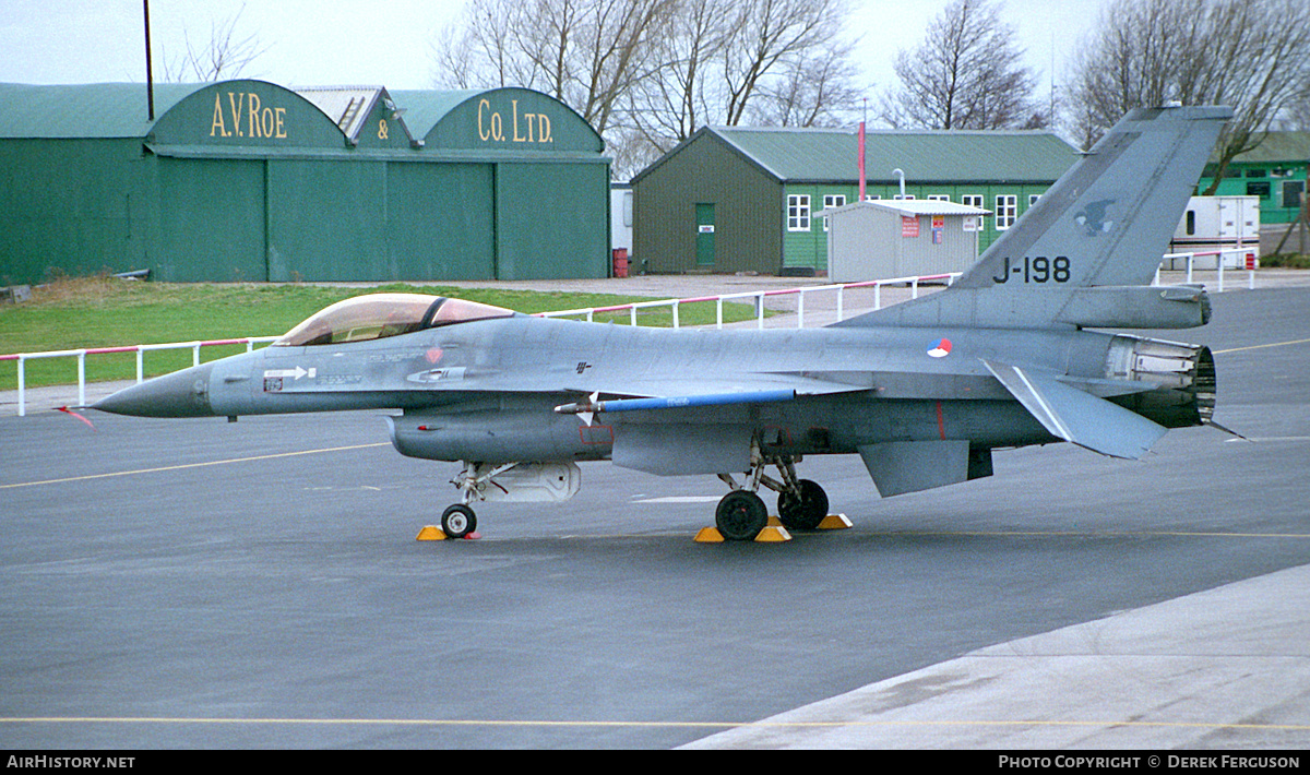
[[[938,199],[880,199],[824,209],[834,283],[962,272],[990,211]]]

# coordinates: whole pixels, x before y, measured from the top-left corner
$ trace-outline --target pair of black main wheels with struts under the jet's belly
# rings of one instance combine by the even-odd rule
[[[778,521],[787,530],[814,530],[828,516],[828,494],[810,479],[798,479],[791,456],[764,457],[758,449],[751,454],[747,483],[740,486],[731,474],[719,474],[731,492],[723,496],[714,512],[714,522],[728,541],[752,541],[769,524],[769,508],[757,495],[760,486],[778,494]],[[765,475],[766,466],[777,466],[781,482]]]

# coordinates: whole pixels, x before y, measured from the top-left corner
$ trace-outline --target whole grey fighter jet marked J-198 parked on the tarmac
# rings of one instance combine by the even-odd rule
[[[952,285],[832,326],[643,329],[367,295],[94,408],[392,410],[401,454],[460,463],[448,537],[476,529],[474,503],[571,497],[583,461],[717,474],[719,532],[751,539],[768,522],[761,487],[791,530],[828,514],[823,487],[796,473],[806,456],[858,454],[883,497],[992,475],[997,449],[1069,441],[1140,458],[1167,428],[1212,423],[1214,360],[1100,329],[1208,321],[1201,287],[1149,283],[1230,117],[1128,114]]]

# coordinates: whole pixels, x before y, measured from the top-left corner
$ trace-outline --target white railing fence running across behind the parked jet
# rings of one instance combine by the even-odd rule
[[[1165,255],[1165,259],[1186,259],[1187,261],[1187,281],[1192,281],[1193,264],[1197,257],[1214,255],[1218,291],[1224,291],[1224,257],[1231,253],[1244,254],[1242,264],[1250,272],[1248,287],[1255,288],[1255,251],[1248,247],[1231,247],[1224,250],[1208,250],[1197,253],[1170,253]],[[1237,270],[1230,270],[1237,271]],[[613,313],[627,310],[629,321],[631,325],[637,325],[637,313],[643,309],[658,309],[669,308],[673,315],[673,327],[681,326],[679,319],[679,310],[684,304],[697,304],[714,301],[717,305],[715,313],[715,327],[723,327],[723,302],[734,302],[744,298],[749,298],[755,304],[755,318],[757,326],[764,329],[764,313],[765,313],[765,298],[777,296],[795,296],[796,297],[796,327],[806,327],[806,296],[814,293],[836,293],[836,306],[837,306],[837,319],[844,319],[845,309],[845,292],[855,288],[872,288],[874,289],[874,309],[882,309],[883,298],[882,289],[884,285],[908,285],[910,288],[910,298],[918,298],[918,287],[921,283],[934,283],[946,281],[946,284],[954,283],[955,278],[960,276],[960,272],[950,272],[943,275],[921,275],[914,278],[892,278],[888,280],[865,280],[859,283],[838,283],[833,285],[810,285],[798,288],[786,288],[777,291],[749,291],[744,293],[723,293],[719,296],[700,296],[694,298],[662,298],[658,301],[637,301],[633,304],[618,304],[613,306],[591,306],[583,309],[565,309],[559,312],[544,312],[537,313],[537,317],[545,318],[567,318],[567,317],[580,317],[591,322],[595,319],[597,313]],[[1159,270],[1155,271],[1155,285],[1159,284]],[[194,365],[200,364],[200,348],[211,347],[219,344],[245,344],[246,352],[254,350],[257,343],[269,343],[278,336],[244,336],[241,339],[216,339],[210,342],[173,342],[168,344],[132,344],[128,347],[93,347],[86,350],[56,350],[51,352],[18,352],[13,355],[0,355],[0,361],[16,360],[18,361],[18,416],[25,416],[28,414],[26,408],[26,363],[29,360],[45,359],[45,357],[76,357],[77,359],[77,405],[85,406],[86,403],[86,356],[88,355],[101,355],[109,352],[136,352],[136,381],[141,382],[145,378],[143,356],[145,352],[156,350],[191,350],[191,363]]]

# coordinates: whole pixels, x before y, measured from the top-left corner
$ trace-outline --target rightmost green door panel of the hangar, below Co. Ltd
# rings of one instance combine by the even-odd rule
[[[500,280],[608,275],[608,166],[498,164],[495,190]]]

